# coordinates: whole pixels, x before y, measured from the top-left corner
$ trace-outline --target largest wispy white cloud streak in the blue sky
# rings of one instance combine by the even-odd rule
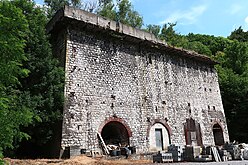
[[[187,11],[176,11],[172,13],[169,17],[167,17],[164,21],[160,22],[160,24],[165,23],[175,23],[178,22],[179,24],[194,24],[199,16],[201,16],[207,9],[206,5],[200,5],[192,7],[190,10]]]

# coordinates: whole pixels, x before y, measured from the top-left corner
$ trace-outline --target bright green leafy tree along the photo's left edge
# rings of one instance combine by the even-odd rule
[[[23,67],[28,23],[22,11],[10,1],[0,1],[0,155],[13,148],[14,141],[29,136],[20,130],[32,122],[33,113],[22,104],[19,79],[29,71]]]

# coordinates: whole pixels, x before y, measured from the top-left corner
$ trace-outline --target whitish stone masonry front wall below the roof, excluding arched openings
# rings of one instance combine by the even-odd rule
[[[130,145],[149,151],[152,124],[165,123],[172,144],[185,145],[187,118],[200,123],[204,145],[213,125],[229,141],[217,73],[203,62],[164,53],[145,43],[70,28],[66,43],[62,146],[99,148],[97,132],[118,118],[130,128]]]

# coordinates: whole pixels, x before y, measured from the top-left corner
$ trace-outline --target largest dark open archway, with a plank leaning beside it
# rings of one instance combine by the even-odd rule
[[[117,121],[107,123],[101,131],[101,136],[106,145],[129,145],[128,131],[122,123]]]

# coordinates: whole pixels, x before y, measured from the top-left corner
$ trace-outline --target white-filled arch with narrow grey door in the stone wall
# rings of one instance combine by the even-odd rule
[[[149,131],[150,151],[167,150],[170,145],[170,135],[161,123],[155,123]]]

